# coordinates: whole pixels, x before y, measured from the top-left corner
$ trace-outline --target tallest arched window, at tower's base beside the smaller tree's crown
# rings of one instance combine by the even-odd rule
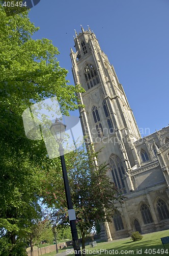
[[[109,158],[109,165],[111,168],[112,179],[119,189],[119,194],[125,194],[126,189],[123,180],[123,174],[125,174],[125,172],[121,159],[117,155],[112,154]]]

